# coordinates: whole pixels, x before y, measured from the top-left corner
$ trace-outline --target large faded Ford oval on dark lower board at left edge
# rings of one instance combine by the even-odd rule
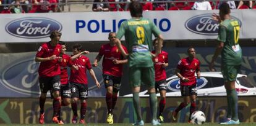
[[[38,85],[38,66],[35,58],[18,61],[3,69],[1,74],[2,84],[10,90],[30,96],[40,95]]]

